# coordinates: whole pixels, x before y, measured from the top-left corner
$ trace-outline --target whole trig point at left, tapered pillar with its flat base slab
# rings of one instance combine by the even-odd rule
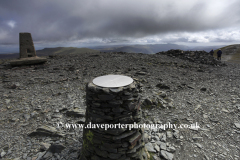
[[[19,33],[19,51],[19,59],[10,61],[12,66],[33,65],[47,61],[46,58],[37,57],[31,33]]]

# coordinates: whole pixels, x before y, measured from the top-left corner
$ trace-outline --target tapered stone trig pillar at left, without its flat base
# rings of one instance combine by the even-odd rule
[[[20,58],[36,57],[31,33],[19,33]]]

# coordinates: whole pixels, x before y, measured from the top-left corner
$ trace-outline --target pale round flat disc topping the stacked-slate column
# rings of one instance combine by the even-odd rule
[[[128,76],[122,76],[122,75],[106,75],[106,76],[100,76],[93,79],[93,83],[100,87],[109,87],[109,88],[115,88],[115,87],[123,87],[131,84],[133,82],[133,79]]]

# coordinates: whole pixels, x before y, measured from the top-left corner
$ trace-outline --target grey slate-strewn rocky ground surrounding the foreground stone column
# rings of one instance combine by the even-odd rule
[[[44,65],[1,65],[0,157],[77,159],[82,129],[57,123],[84,123],[85,85],[106,74],[128,75],[140,84],[143,123],[200,125],[145,129],[153,159],[240,159],[240,65],[136,53],[57,55]]]

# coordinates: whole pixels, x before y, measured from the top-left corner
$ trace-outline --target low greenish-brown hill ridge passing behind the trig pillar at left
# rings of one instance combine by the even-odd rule
[[[75,53],[98,53],[98,50],[89,48],[76,48],[76,47],[57,47],[57,48],[44,48],[37,50],[36,54],[39,57],[49,56],[53,54],[75,54]],[[14,59],[19,58],[19,53],[0,54],[0,59]]]

